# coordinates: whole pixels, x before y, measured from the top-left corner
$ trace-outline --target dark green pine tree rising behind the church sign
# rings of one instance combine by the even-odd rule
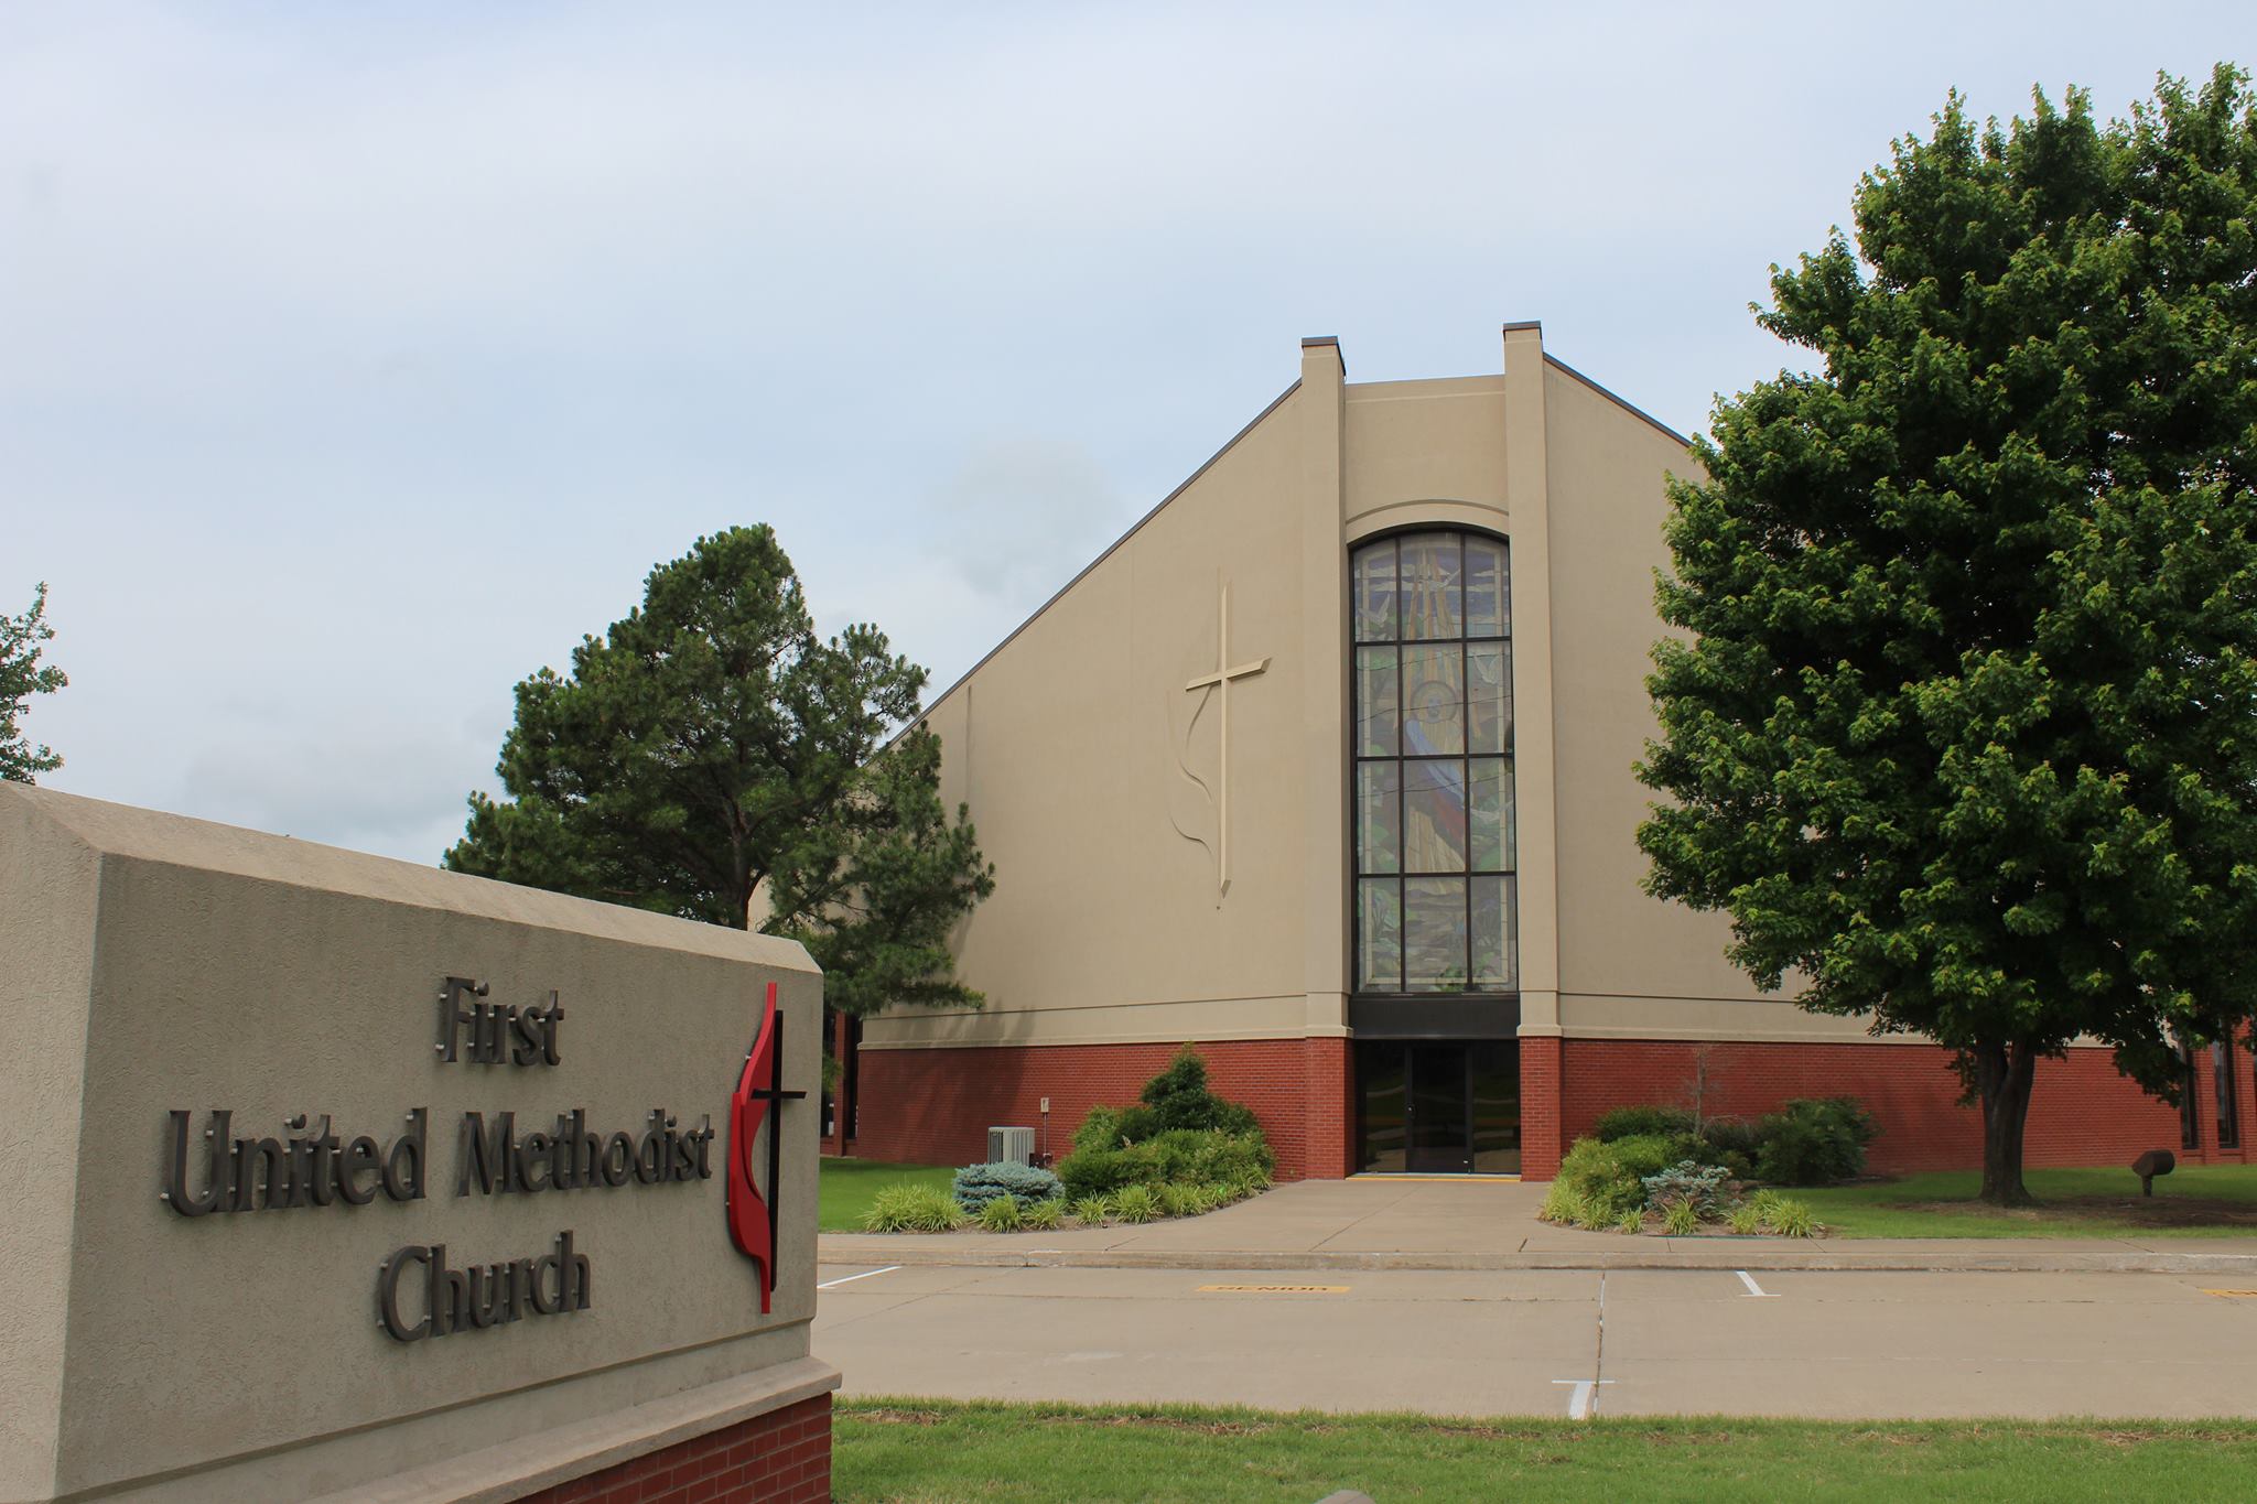
[[[941,803],[923,683],[876,627],[815,636],[770,528],[697,539],[569,676],[517,685],[510,798],[469,796],[445,866],[792,934],[844,1012],[977,1006],[948,931],[993,868]]]

